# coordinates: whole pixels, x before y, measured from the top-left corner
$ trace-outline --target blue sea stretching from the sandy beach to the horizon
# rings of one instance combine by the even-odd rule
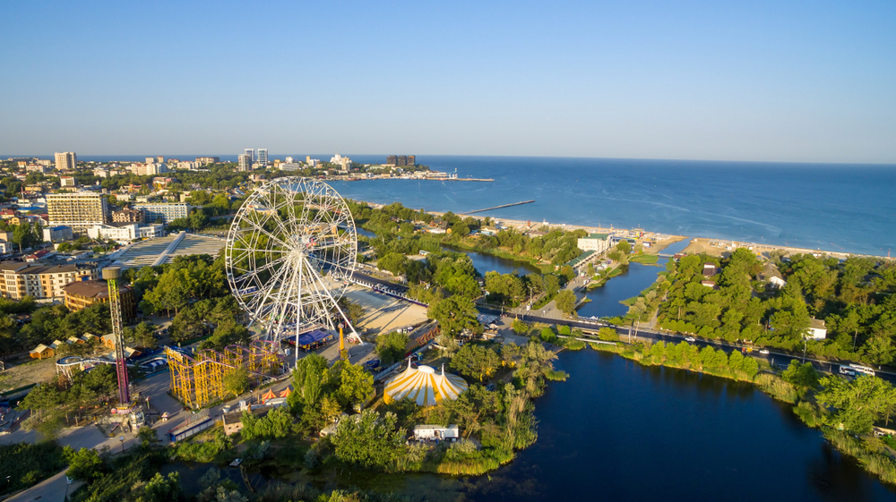
[[[349,157],[373,164],[384,162],[386,156]],[[456,172],[460,178],[495,181],[331,184],[349,199],[397,201],[410,208],[455,213],[535,200],[480,212],[479,217],[637,227],[662,234],[879,256],[896,251],[896,165],[419,155],[417,161]]]

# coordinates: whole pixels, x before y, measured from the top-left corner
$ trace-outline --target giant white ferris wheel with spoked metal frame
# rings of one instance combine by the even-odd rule
[[[234,217],[225,262],[250,326],[279,342],[349,319],[338,304],[355,269],[358,234],[348,205],[326,183],[284,177],[255,189]]]

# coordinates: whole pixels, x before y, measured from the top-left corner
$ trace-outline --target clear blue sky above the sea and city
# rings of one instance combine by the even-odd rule
[[[896,163],[896,2],[0,2],[0,154]]]

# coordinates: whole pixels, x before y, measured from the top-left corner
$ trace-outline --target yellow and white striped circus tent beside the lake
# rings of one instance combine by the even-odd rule
[[[444,364],[442,373],[436,374],[431,366],[411,368],[409,361],[407,370],[386,382],[383,401],[390,404],[409,397],[418,406],[434,406],[444,399],[457,399],[465,390],[467,382],[457,375],[445,373]]]

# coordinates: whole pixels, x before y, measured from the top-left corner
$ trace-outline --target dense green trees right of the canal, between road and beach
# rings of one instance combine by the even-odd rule
[[[721,266],[717,288],[701,285],[705,262]],[[780,262],[787,284],[761,282],[762,264],[743,248],[726,260],[705,255],[669,262],[663,328],[802,349],[810,319],[824,319],[827,339],[808,352],[887,364],[896,356],[896,266],[867,258],[840,262],[797,255]]]

